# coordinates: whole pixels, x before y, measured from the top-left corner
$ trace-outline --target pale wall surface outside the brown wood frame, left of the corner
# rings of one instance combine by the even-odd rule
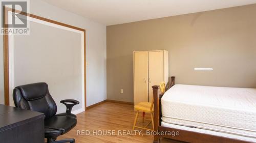
[[[68,11],[59,9],[40,0],[30,1],[30,13],[59,22],[86,29],[87,66],[87,106],[106,99],[106,26],[83,18]],[[1,38],[1,55],[3,56],[3,38]],[[0,66],[3,58],[0,59]],[[3,66],[0,67],[1,87],[3,94]],[[2,101],[2,98],[0,98]],[[64,106],[63,106],[64,107]]]

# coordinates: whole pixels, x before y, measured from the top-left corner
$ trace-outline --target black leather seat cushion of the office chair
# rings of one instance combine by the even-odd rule
[[[56,138],[76,126],[76,118],[72,116],[55,115],[45,120],[45,137]]]

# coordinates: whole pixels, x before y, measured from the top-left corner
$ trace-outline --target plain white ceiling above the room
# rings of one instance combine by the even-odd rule
[[[256,0],[42,0],[105,25],[255,4]]]

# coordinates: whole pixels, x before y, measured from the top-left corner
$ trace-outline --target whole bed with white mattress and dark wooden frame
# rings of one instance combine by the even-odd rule
[[[256,89],[170,81],[164,94],[153,86],[155,131],[178,131],[163,136],[186,142],[256,142]]]

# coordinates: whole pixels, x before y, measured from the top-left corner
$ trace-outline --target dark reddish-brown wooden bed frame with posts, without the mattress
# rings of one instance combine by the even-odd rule
[[[175,77],[172,76],[169,78],[169,82],[166,84],[165,91],[172,88],[175,84]],[[180,130],[175,128],[168,128],[161,126],[161,97],[163,93],[160,93],[159,91],[159,85],[154,85],[153,87],[153,95],[154,95],[154,131],[162,132],[162,131],[178,131],[179,135],[176,136],[168,136],[168,135],[154,135],[154,143],[159,143],[160,139],[159,137],[166,137],[170,139],[175,139],[179,141],[185,141],[185,142],[197,142],[197,143],[216,143],[216,142],[225,142],[225,143],[248,143],[248,141],[243,140],[237,140],[237,139],[231,139],[216,135],[210,135],[205,133],[198,133],[193,131],[186,131],[186,130]]]

